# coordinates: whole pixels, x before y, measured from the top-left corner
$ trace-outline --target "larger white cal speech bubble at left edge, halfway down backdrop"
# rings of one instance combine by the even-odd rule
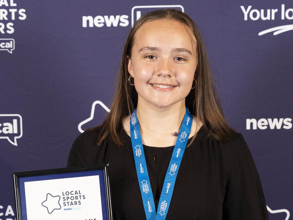
[[[17,138],[22,137],[22,117],[19,114],[0,114],[0,139],[7,139],[17,146]]]

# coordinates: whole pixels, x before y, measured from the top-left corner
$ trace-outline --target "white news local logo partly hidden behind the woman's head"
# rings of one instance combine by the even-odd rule
[[[131,26],[137,21],[143,14],[154,11],[157,9],[172,8],[184,12],[184,8],[181,5],[144,5],[134,6],[131,9]],[[82,26],[84,28],[96,26],[98,28],[106,27],[126,27],[129,25],[128,15],[98,15],[98,16],[82,16]]]

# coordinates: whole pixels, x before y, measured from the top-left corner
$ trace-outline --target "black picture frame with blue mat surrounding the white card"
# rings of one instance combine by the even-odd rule
[[[35,170],[35,171],[27,171],[27,172],[13,172],[12,177],[13,177],[13,189],[14,189],[14,199],[15,199],[15,208],[16,208],[16,219],[27,220],[27,216],[24,216],[26,215],[24,182],[30,182],[30,180],[38,181],[38,180],[62,179],[62,175],[64,175],[64,178],[70,178],[68,176],[74,176],[74,175],[77,175],[78,177],[83,177],[84,173],[86,173],[86,176],[90,176],[88,174],[90,174],[91,172],[99,172],[99,173],[103,173],[103,177],[104,177],[102,179],[99,176],[100,181],[102,180],[102,183],[105,183],[105,184],[100,184],[101,200],[102,200],[101,204],[102,206],[106,207],[106,212],[107,212],[107,215],[106,215],[104,213],[105,207],[102,207],[103,220],[104,219],[112,220],[113,213],[112,213],[112,205],[111,205],[111,191],[110,191],[108,167],[109,167],[109,164],[84,166],[84,167],[58,168],[58,169],[49,169],[49,170]],[[57,175],[58,175],[58,178],[57,178]],[[29,181],[25,181],[25,180],[29,180]],[[40,219],[42,219],[42,216],[40,216]]]

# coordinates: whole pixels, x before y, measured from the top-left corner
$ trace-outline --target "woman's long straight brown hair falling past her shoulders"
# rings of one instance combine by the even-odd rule
[[[128,57],[131,57],[134,44],[134,35],[145,22],[159,19],[174,19],[182,22],[195,36],[197,41],[197,67],[194,76],[197,83],[196,87],[191,89],[190,93],[185,98],[185,105],[188,107],[190,113],[197,116],[197,119],[203,122],[202,126],[207,132],[207,137],[211,136],[220,142],[224,142],[227,139],[231,139],[232,132],[235,131],[227,125],[224,118],[220,101],[214,89],[205,45],[196,24],[190,17],[181,11],[175,9],[160,9],[146,13],[139,18],[138,21],[134,23],[127,36],[120,68],[117,74],[117,84],[112,98],[111,111],[100,126],[87,130],[100,131],[97,138],[98,145],[107,137],[112,138],[118,146],[124,144],[118,134],[122,119],[126,115],[130,115],[137,107],[137,92],[134,86],[131,86],[128,82],[130,74],[127,69]],[[195,137],[196,135],[193,136],[189,145],[194,141]]]

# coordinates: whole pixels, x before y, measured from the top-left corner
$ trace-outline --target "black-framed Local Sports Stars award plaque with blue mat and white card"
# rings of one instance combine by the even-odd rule
[[[112,220],[108,166],[12,173],[17,220]]]

